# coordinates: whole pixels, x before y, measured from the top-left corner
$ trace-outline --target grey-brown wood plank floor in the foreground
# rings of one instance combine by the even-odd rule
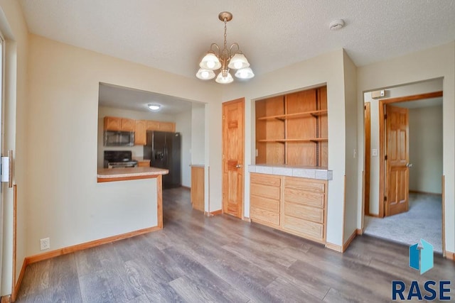
[[[188,189],[166,189],[163,199],[162,231],[33,263],[16,302],[390,302],[392,280],[417,280],[422,292],[426,280],[451,280],[455,298],[455,263],[440,255],[420,275],[397,243],[359,236],[341,254],[205,217]]]

